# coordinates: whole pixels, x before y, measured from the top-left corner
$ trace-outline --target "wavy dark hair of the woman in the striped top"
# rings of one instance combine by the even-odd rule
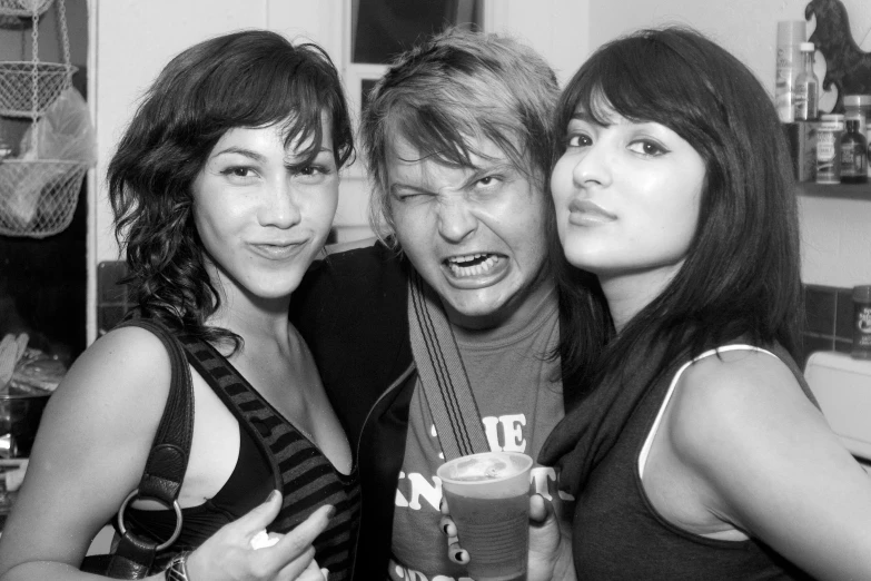
[[[123,280],[136,309],[208,341],[240,339],[207,327],[220,298],[205,267],[191,215],[191,185],[232,128],[280,124],[285,142],[320,147],[321,115],[331,120],[336,163],[354,155],[338,73],[319,47],[275,32],[240,31],[200,42],[174,58],[143,96],[109,164],[116,237],[126,250]]]

